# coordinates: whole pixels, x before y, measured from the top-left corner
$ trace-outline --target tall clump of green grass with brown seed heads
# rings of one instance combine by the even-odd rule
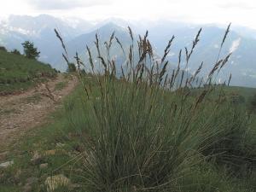
[[[229,30],[230,26],[220,51]],[[91,192],[185,191],[186,186],[180,183],[191,174],[190,170],[201,161],[233,155],[231,151],[226,153],[228,148],[234,149],[242,142],[241,137],[237,140],[233,137],[242,136],[247,129],[245,115],[236,106],[224,102],[223,96],[211,97],[212,83],[230,55],[223,59],[218,55],[204,79],[200,77],[203,63],[194,74],[187,70],[201,30],[191,48],[184,49],[184,61],[180,50],[173,70],[166,56],[174,37],[167,43],[164,54],[157,57],[148,32],[136,38],[129,27],[129,34],[129,49],[124,49],[113,32],[104,43],[104,51],[96,35],[98,61],[92,58],[89,47],[88,63],[81,61],[78,54],[75,56],[84,89],[83,105],[79,108],[86,113],[78,124],[70,119],[74,129],[79,127],[86,148],[78,157],[82,165],[79,176],[84,188]],[[66,47],[58,32],[56,35],[69,63]],[[113,44],[122,49],[126,58],[123,64],[110,55]],[[102,67],[96,67],[98,64]],[[69,104],[67,108],[74,107]],[[233,163],[233,159],[224,160]]]

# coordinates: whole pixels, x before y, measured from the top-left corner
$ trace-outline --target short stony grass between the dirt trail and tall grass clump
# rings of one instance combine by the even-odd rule
[[[75,90],[71,96],[67,96],[65,102],[76,102],[79,106],[80,94],[81,89]],[[58,147],[58,143],[65,145]],[[9,160],[14,160],[15,164],[8,169],[0,168],[0,192],[23,191],[27,179],[32,177],[38,178],[38,181],[32,184],[32,191],[46,191],[44,186],[46,177],[61,173],[71,178],[73,183],[78,183],[79,179],[70,175],[70,169],[75,166],[73,163],[66,165],[69,160],[73,160],[73,156],[76,155],[74,148],[78,148],[78,146],[79,139],[70,130],[67,113],[64,106],[61,105],[57,111],[49,114],[47,124],[28,131],[20,143],[16,144],[14,148],[10,148],[12,152],[9,154]],[[55,154],[44,156],[45,151],[48,150],[55,150]],[[39,163],[33,164],[31,159],[35,152],[38,152],[43,158]],[[40,169],[39,165],[42,163],[48,163],[48,167]],[[69,191],[69,189],[61,191]],[[74,189],[74,191],[79,190]]]

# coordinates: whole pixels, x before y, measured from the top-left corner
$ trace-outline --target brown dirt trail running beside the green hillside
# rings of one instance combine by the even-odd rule
[[[38,84],[20,95],[0,96],[0,159],[8,146],[25,131],[43,124],[46,115],[72,92],[77,82],[73,76],[67,79],[59,74],[55,80]]]

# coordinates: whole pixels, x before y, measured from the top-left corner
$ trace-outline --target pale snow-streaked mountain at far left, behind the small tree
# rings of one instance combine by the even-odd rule
[[[11,15],[8,20],[0,23],[0,44],[8,49],[21,51],[21,43],[30,40],[41,51],[39,60],[52,63],[55,59],[53,50],[60,48],[55,37],[55,28],[68,41],[88,32],[92,26],[89,22],[79,19],[61,20],[49,15]]]

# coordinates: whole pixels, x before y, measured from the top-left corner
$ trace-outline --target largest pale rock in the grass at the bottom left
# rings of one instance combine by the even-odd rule
[[[46,189],[48,192],[53,192],[59,187],[68,187],[70,185],[70,181],[67,177],[60,174],[52,177],[47,177],[44,184],[46,185]]]

